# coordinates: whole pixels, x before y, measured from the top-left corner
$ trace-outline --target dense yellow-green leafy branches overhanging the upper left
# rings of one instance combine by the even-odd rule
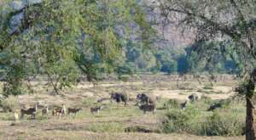
[[[145,40],[151,31],[134,0],[1,2],[0,64],[7,95],[20,94],[36,76],[47,76],[57,93],[81,74],[93,81],[101,69],[96,60],[111,72],[122,59],[121,41],[129,39],[131,22],[143,29]]]

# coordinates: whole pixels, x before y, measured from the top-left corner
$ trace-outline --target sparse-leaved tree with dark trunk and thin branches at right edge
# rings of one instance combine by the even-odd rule
[[[256,139],[253,93],[256,83],[256,2],[255,0],[160,0],[165,21],[174,21],[193,31],[195,42],[218,42],[215,46],[196,45],[194,51],[212,63],[212,56],[228,53],[241,64],[243,84],[239,92],[247,101],[246,137]],[[176,22],[178,21],[178,22]]]

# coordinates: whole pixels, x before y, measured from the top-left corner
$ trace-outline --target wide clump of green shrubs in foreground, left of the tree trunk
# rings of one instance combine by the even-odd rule
[[[218,109],[213,114],[202,113],[189,104],[188,108],[169,109],[161,123],[161,132],[187,132],[199,136],[239,136],[245,126],[244,112]]]

